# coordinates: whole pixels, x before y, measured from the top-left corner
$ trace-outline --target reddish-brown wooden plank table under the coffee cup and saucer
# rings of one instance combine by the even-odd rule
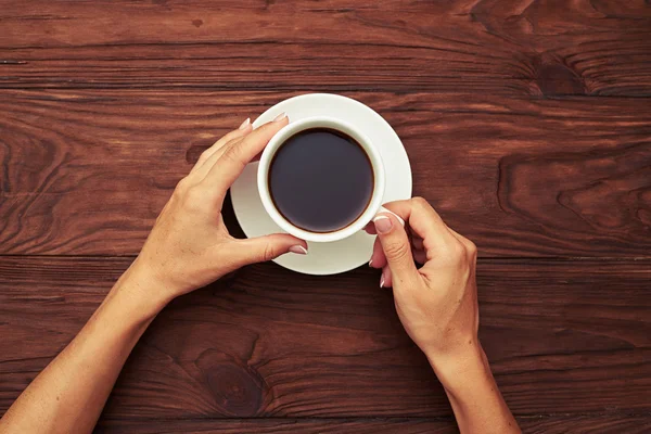
[[[522,427],[651,431],[642,0],[0,2],[0,412],[199,153],[314,91],[381,113],[414,194],[478,245],[481,340]],[[98,431],[455,432],[378,281],[266,264],[177,299]]]

